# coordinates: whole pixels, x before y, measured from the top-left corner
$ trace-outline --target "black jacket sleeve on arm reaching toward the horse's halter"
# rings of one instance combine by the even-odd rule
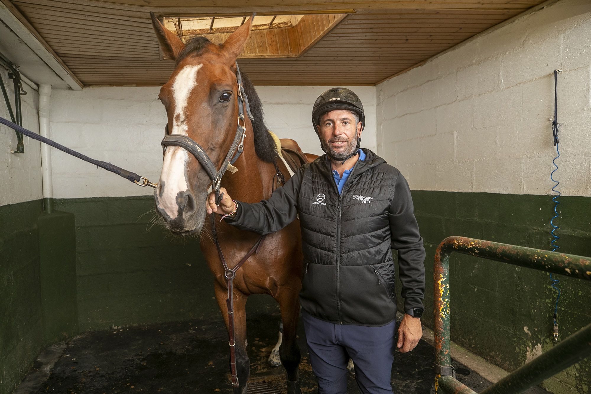
[[[290,178],[282,188],[277,188],[267,200],[248,204],[236,201],[238,211],[234,218],[226,218],[229,224],[241,230],[264,235],[279,231],[297,218],[297,199],[300,193],[303,168]]]

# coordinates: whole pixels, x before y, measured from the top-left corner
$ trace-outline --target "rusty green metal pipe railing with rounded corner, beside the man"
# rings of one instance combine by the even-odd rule
[[[552,272],[566,276],[578,277],[579,279],[591,280],[591,259],[588,257],[501,244],[491,241],[475,240],[473,238],[447,237],[441,241],[437,247],[433,266],[435,307],[434,326],[436,348],[435,364],[436,366],[439,366],[437,368],[438,370],[446,370],[447,367],[451,365],[449,329],[449,257],[454,251],[462,254],[470,254],[472,256],[482,257],[483,259],[502,261],[504,263],[514,264],[521,267],[528,267],[545,272]],[[584,328],[582,331],[586,330],[586,328]],[[577,332],[577,334],[579,334],[579,332]],[[581,347],[584,347],[582,343],[583,339],[584,336],[581,334],[573,339],[574,342],[570,341],[571,337],[569,337],[567,340],[564,340],[563,343],[576,343],[581,345]],[[541,380],[552,376],[548,375],[548,373],[556,374],[557,372],[560,372],[566,368],[566,366],[562,367],[564,364],[563,360],[553,360],[548,362],[553,363],[553,366],[547,366],[543,372],[539,372],[537,375],[534,374],[535,379],[533,377],[530,379],[532,382],[538,378],[540,378],[541,382]],[[573,363],[576,363],[576,361],[573,361]],[[514,376],[514,373],[510,374],[505,379],[511,379],[511,377]],[[435,388],[437,394],[441,394],[444,390],[443,387],[440,387],[440,379],[443,379],[443,381],[447,383],[449,383],[450,380],[447,379],[446,376],[441,376],[441,374],[436,373]],[[462,383],[457,383],[462,385]],[[531,385],[534,384],[535,383],[532,383]],[[508,393],[507,391],[502,390],[498,393],[501,392]]]

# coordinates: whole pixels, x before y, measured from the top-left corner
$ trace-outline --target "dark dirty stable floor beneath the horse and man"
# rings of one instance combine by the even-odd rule
[[[277,341],[277,322],[274,305],[248,312],[251,392],[285,393],[284,369],[267,364],[269,351]],[[88,332],[47,348],[14,393],[231,393],[227,340],[220,315],[209,321]],[[299,343],[302,392],[315,393],[316,379],[301,328]],[[395,393],[434,393],[433,351],[421,340],[411,353],[395,354]],[[457,379],[476,392],[491,385],[463,364],[453,364]],[[256,390],[265,386],[273,390]],[[360,393],[352,374],[348,386],[349,393]],[[527,393],[546,391],[534,387]]]

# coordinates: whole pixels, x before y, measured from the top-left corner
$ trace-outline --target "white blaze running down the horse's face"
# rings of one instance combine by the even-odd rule
[[[173,128],[170,134],[189,135],[187,125],[187,104],[191,92],[197,86],[197,71],[203,66],[186,66],[181,69],[173,83],[174,116]],[[166,212],[170,219],[178,216],[177,196],[179,192],[189,189],[187,185],[187,163],[189,163],[189,152],[184,148],[169,146],[164,154],[162,173],[160,174],[160,185],[164,185],[161,197],[158,198],[158,205]]]

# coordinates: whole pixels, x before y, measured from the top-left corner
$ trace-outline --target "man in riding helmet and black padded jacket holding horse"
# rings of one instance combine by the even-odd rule
[[[304,164],[271,198],[258,204],[219,206],[207,212],[259,234],[280,230],[299,214],[304,274],[300,301],[310,363],[319,393],[346,393],[346,366],[355,364],[363,393],[392,393],[397,346],[412,350],[423,335],[425,251],[401,173],[360,149],[363,105],[349,89],[322,93],[312,120],[326,153]],[[398,250],[404,319],[394,344],[396,303],[391,248]]]

